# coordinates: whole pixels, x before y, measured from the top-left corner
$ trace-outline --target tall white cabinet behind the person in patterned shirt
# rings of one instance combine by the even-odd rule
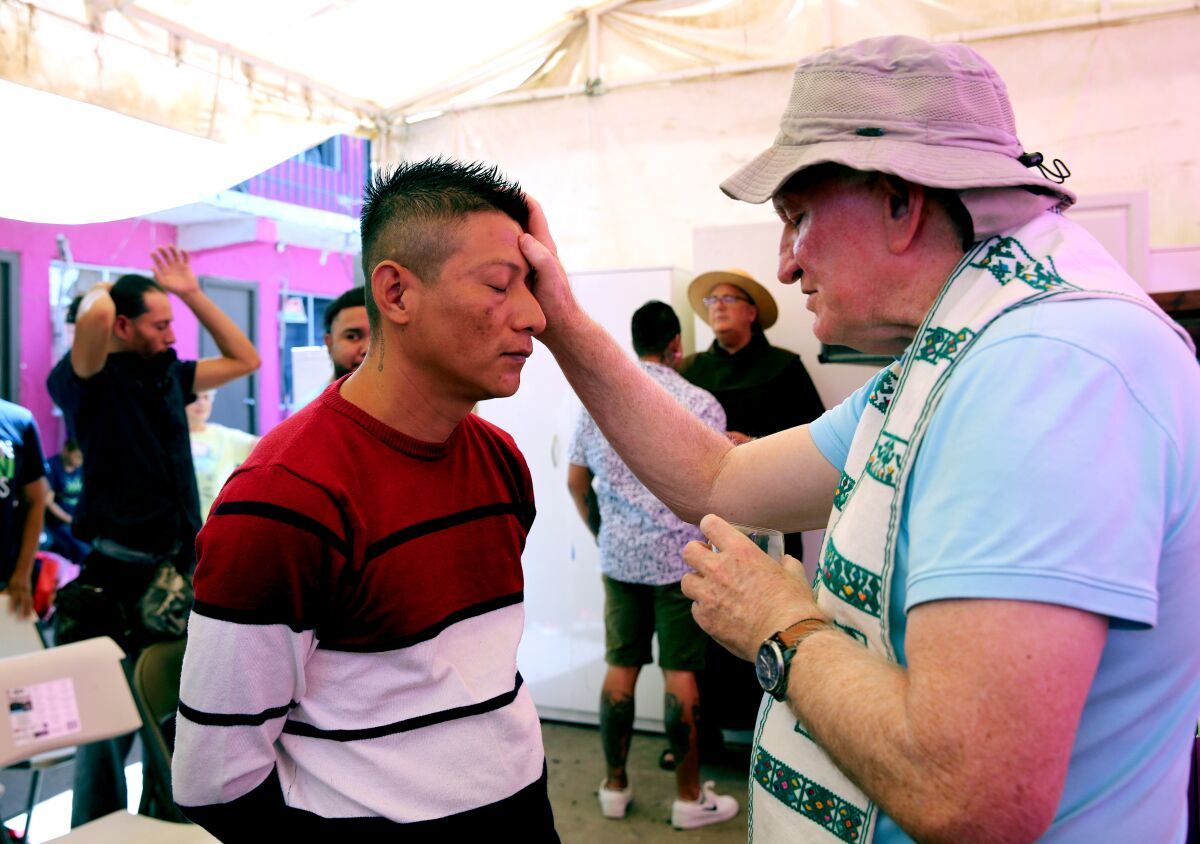
[[[580,273],[571,285],[584,310],[632,357],[629,321],[644,303],[671,303],[685,325],[691,322],[686,305],[672,301],[673,291],[683,289],[679,275],[672,269]],[[533,474],[538,507],[523,556],[526,631],[517,665],[544,718],[595,724],[605,674],[604,587],[595,540],[566,491],[566,455],[578,412],[578,399],[541,343],[534,345],[517,394],[479,406],[481,417],[516,439]],[[642,671],[635,705],[636,726],[661,731],[662,674],[656,665]]]

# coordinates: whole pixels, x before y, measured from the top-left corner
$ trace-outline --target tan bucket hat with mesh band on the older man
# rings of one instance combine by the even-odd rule
[[[926,187],[1036,187],[1072,205],[1073,192],[1030,169],[1033,158],[983,56],[900,35],[800,59],[775,143],[721,190],[761,203],[798,170],[834,162]]]

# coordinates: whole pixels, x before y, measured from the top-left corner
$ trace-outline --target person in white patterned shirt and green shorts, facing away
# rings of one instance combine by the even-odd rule
[[[683,349],[679,318],[671,306],[661,301],[642,305],[634,313],[632,335],[641,369],[706,425],[725,431],[725,411],[716,399],[676,372]],[[680,550],[703,537],[642,486],[587,411],[581,411],[568,487],[584,523],[595,532],[587,503],[593,478],[600,505],[608,664],[600,690],[600,737],[607,765],[599,789],[600,810],[608,818],[624,818],[632,800],[625,760],[634,734],[634,687],[650,662],[650,639],[658,633],[666,731],[677,760],[678,798],[671,822],[692,828],[728,820],[738,813],[737,800],[715,794],[712,783],[700,783],[696,671],[704,666],[706,638],[691,617],[691,601],[679,591],[679,580],[689,570]]]

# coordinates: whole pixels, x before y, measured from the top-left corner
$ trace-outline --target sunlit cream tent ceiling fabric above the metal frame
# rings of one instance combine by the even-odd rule
[[[4,0],[0,78],[240,143],[373,132],[380,121],[503,90],[582,91],[593,76],[619,85],[686,68],[788,62],[886,32],[944,37],[1048,19],[1099,20],[1157,5],[1160,0]],[[582,37],[589,17],[598,32]],[[598,55],[589,55],[593,50]],[[595,83],[590,90],[598,90]]]

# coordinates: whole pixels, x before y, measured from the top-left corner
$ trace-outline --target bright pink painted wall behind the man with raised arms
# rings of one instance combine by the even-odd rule
[[[260,221],[268,222],[268,221]],[[250,282],[258,287],[257,346],[263,360],[258,371],[259,433],[284,415],[280,407],[280,330],[276,312],[280,291],[337,295],[354,283],[354,256],[330,253],[324,264],[316,250],[288,246],[277,252],[274,226],[260,225],[260,240],[192,255],[197,275]],[[64,429],[46,391],[52,360],[49,267],[58,258],[55,237],[65,234],[76,263],[144,271],[150,275],[150,252],[173,244],[174,226],[126,220],[89,226],[50,226],[0,219],[0,252],[14,252],[19,267],[20,379],[18,401],[37,418],[47,451],[62,442]],[[175,349],[194,358],[199,324],[187,307],[173,298]]]

